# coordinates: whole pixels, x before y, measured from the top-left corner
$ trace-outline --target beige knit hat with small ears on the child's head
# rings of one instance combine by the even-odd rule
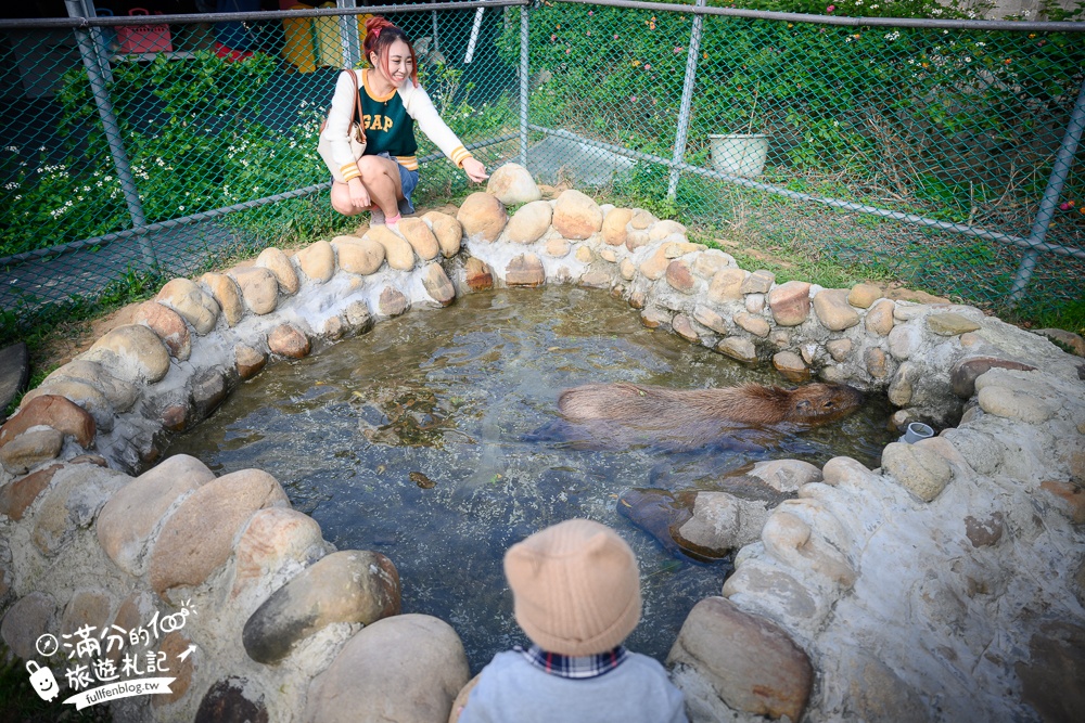
[[[605,653],[640,621],[640,574],[616,532],[570,519],[536,532],[505,554],[516,622],[550,653]]]

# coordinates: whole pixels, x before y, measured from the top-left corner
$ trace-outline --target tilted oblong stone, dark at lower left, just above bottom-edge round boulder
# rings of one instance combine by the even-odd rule
[[[399,614],[399,573],[384,555],[343,551],[323,557],[277,590],[248,618],[248,657],[273,664],[333,622],[372,624]]]

